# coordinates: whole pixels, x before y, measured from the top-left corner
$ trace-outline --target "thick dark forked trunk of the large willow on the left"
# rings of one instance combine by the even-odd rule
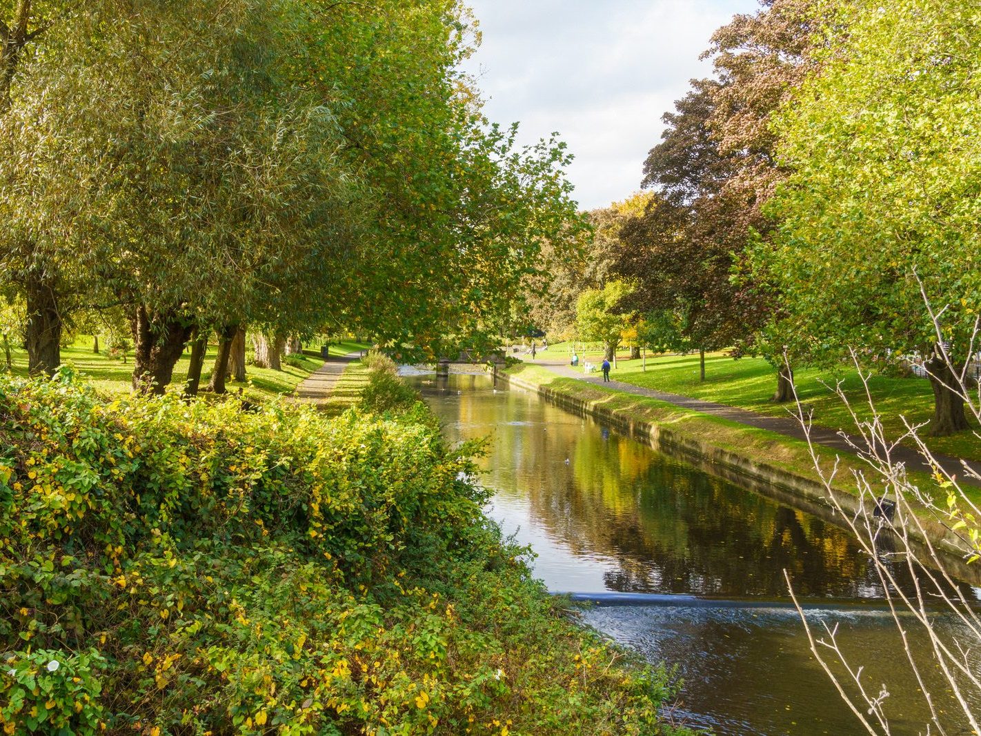
[[[181,359],[191,326],[174,310],[151,313],[140,304],[130,327],[133,391],[163,394],[174,378],[174,366]]]

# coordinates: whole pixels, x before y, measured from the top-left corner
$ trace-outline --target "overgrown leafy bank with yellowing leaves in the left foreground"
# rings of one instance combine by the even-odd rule
[[[0,377],[0,727],[648,734],[390,367],[329,419]],[[346,376],[346,374],[345,374]]]

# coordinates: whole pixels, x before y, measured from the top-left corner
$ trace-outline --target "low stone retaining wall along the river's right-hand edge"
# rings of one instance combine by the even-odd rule
[[[538,394],[574,414],[600,419],[628,437],[645,442],[657,451],[680,457],[710,475],[738,485],[749,486],[750,490],[756,493],[798,507],[838,526],[845,524],[834,502],[828,497],[828,490],[813,478],[760,462],[731,449],[714,446],[701,438],[664,427],[656,422],[639,420],[620,409],[601,406],[593,400],[543,386],[504,371],[491,370],[498,381]],[[859,511],[859,500],[854,494],[841,490],[834,490],[833,493],[845,513],[853,515]],[[872,505],[870,503],[866,505],[867,510],[871,512]],[[958,576],[968,582],[981,583],[981,571],[975,569],[977,565],[968,566],[963,563],[961,553],[955,545],[956,537],[952,532],[930,518],[920,516],[920,523],[926,529],[929,540],[920,534],[919,529],[907,526],[911,538],[921,544],[929,541],[938,549],[947,552],[948,559],[956,565]]]

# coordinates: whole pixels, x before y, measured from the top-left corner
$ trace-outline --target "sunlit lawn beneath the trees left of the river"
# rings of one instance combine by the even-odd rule
[[[331,354],[344,354],[357,349],[367,347],[364,343],[342,342],[340,343],[343,352],[337,353],[335,346],[332,345]],[[215,362],[217,346],[208,346],[208,353],[204,361],[204,370],[201,375],[202,386],[206,385],[211,376],[211,369]],[[63,347],[62,361],[75,366],[77,371],[84,374],[89,381],[100,391],[107,394],[125,394],[129,392],[130,381],[132,378],[132,356],[126,363],[118,358],[111,358],[107,350],[103,347],[98,354],[92,352],[92,339],[90,337],[79,337],[71,347]],[[248,352],[246,352],[246,355]],[[26,375],[27,355],[24,350],[14,350],[14,373]],[[291,394],[293,390],[311,373],[320,368],[324,361],[320,358],[309,355],[290,356],[290,360],[296,360],[298,365],[290,365],[283,360],[283,370],[274,371],[270,368],[257,368],[254,365],[246,365],[245,383],[229,381],[227,387],[229,393],[237,393],[242,389],[242,393],[255,400],[260,398],[272,398],[280,394]],[[187,365],[190,361],[190,347],[181,355],[181,359],[174,368],[174,380],[171,382],[171,390],[180,389],[187,378]]]

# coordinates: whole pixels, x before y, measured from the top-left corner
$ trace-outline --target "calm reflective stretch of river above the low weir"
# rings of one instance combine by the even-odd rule
[[[786,569],[807,599],[882,597],[870,560],[833,524],[487,376],[413,380],[452,439],[490,436],[490,513],[520,528],[551,590],[786,599]],[[896,576],[909,583],[903,564]]]

